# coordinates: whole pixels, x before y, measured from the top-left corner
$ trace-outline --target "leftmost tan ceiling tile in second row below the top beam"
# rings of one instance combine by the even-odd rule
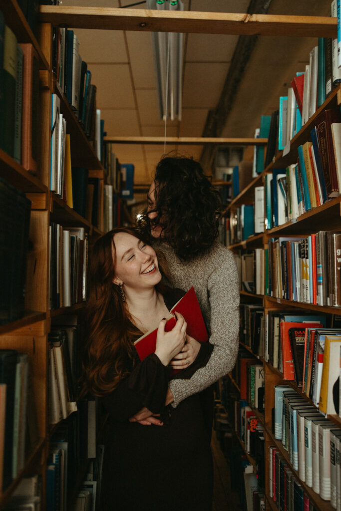
[[[135,108],[127,64],[92,64],[90,71],[98,108]]]

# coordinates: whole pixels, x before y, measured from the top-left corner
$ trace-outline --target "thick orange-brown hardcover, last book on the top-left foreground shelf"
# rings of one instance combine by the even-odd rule
[[[39,59],[32,44],[20,44],[24,54],[22,89],[22,166],[33,173],[38,171],[39,158]]]

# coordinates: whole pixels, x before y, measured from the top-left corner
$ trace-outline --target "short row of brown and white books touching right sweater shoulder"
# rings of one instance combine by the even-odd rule
[[[267,251],[263,248],[256,248],[252,251],[239,250],[234,253],[241,291],[260,295],[265,294],[264,267],[266,253]]]

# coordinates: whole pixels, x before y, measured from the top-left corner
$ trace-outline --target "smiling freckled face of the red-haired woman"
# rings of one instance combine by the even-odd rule
[[[155,250],[128,233],[117,233],[113,237],[115,250],[112,258],[115,264],[114,284],[124,283],[127,288],[146,289],[161,281]]]

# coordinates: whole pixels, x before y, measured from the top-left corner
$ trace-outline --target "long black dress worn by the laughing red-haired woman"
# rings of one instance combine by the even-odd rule
[[[180,294],[181,293],[181,294]],[[164,296],[170,309],[184,294]],[[190,378],[206,365],[208,342],[194,363],[175,377]],[[176,408],[165,407],[168,367],[151,354],[137,361],[130,376],[102,399],[109,413],[103,467],[105,511],[211,511],[213,468],[209,424],[211,389],[194,394]],[[129,417],[146,406],[161,413],[163,426],[130,423]]]

